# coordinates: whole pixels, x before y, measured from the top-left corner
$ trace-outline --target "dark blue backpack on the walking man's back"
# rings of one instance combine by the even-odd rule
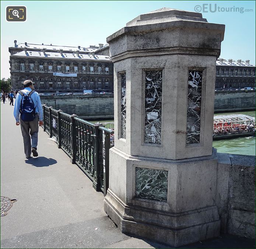
[[[30,98],[33,92],[35,91],[30,91],[28,95],[25,95],[24,92],[19,91],[19,94],[22,96],[20,114],[21,119],[25,122],[30,122],[35,119],[36,109],[32,99]]]

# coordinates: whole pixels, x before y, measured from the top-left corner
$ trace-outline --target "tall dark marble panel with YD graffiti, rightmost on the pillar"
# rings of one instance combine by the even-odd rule
[[[189,70],[187,91],[187,132],[186,143],[200,143],[202,73]]]

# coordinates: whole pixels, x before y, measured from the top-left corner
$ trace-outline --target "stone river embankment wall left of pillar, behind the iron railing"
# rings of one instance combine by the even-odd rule
[[[114,118],[114,94],[41,95],[42,104],[83,119]]]

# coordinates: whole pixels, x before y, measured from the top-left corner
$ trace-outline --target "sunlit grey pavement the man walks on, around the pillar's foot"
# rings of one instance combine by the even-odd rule
[[[1,217],[1,248],[170,248],[120,233],[103,210],[103,194],[41,127],[38,158],[25,158],[13,106],[0,108],[0,194],[17,199]],[[182,248],[255,248],[253,240],[221,236]]]

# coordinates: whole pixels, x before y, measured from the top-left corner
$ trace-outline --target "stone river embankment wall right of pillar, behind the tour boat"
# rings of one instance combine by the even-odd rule
[[[255,91],[215,91],[214,112],[255,109]]]

